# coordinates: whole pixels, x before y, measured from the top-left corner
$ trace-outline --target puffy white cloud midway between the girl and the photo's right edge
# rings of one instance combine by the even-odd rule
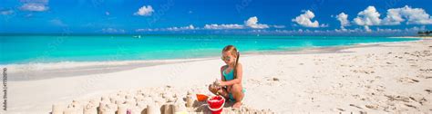
[[[326,27],[328,25],[326,24],[319,24],[318,21],[312,21],[311,19],[313,19],[315,17],[315,14],[313,12],[311,12],[310,10],[307,10],[304,12],[304,14],[300,14],[299,16],[295,17],[292,21],[300,24],[304,27]]]

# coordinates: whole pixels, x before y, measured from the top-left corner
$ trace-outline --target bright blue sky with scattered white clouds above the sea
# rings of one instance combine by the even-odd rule
[[[432,28],[430,0],[0,1],[0,33],[403,35]]]

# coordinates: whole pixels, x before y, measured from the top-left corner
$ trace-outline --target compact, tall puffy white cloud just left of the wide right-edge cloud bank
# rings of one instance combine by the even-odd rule
[[[376,11],[375,6],[367,6],[364,11],[357,14],[354,23],[365,26],[366,31],[371,31],[369,26],[379,25],[381,23],[381,19],[379,18],[380,15],[381,14]]]

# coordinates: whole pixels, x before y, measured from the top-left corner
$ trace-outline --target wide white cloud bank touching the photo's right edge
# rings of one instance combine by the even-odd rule
[[[388,9],[383,24],[398,25],[405,21],[406,24],[432,24],[432,17],[422,8],[411,8],[406,5],[401,8]]]

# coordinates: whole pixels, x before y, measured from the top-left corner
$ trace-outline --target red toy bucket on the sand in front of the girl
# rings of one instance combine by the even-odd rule
[[[211,114],[221,114],[223,105],[225,105],[225,99],[221,96],[213,96],[207,100],[208,107],[211,110]]]

